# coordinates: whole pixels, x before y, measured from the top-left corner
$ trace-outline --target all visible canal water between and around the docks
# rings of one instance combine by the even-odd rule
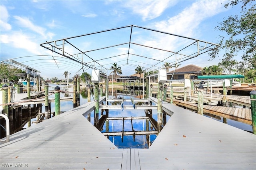
[[[62,89],[62,85],[58,85]],[[64,86],[64,85],[63,85]],[[54,87],[56,87],[56,84],[49,84],[49,91],[53,90]],[[87,102],[87,90],[80,88],[80,91],[84,90],[80,94],[80,105],[85,104]],[[69,88],[69,91],[72,92],[72,88]],[[104,94],[104,89],[103,89],[103,94]],[[113,96],[112,96],[113,94]],[[72,96],[72,93],[60,93],[61,97],[64,96]],[[129,94],[122,94],[122,90],[118,89],[109,89],[109,98],[122,98],[124,97],[125,99],[130,99]],[[54,98],[54,94],[52,96],[49,96],[49,98]],[[132,98],[138,98],[136,94],[132,94]],[[93,96],[91,95],[91,101],[94,101]],[[114,105],[114,103],[109,103],[110,105]],[[124,102],[124,105],[131,105],[130,102]],[[60,111],[65,112],[73,108],[73,102],[72,101],[64,101],[60,102]],[[44,113],[45,107],[44,105],[42,106],[42,113]],[[51,109],[52,111],[55,110],[54,108],[54,102],[51,103]],[[100,113],[101,111],[99,110],[99,119],[100,119]],[[105,114],[105,112],[103,113]],[[143,117],[145,116],[145,111],[140,110],[140,109],[114,109],[114,110],[109,110],[108,117]],[[221,121],[223,122],[222,117],[214,117],[212,115],[205,115],[209,117],[210,119],[215,119],[216,121]],[[152,118],[157,121],[157,110],[152,110]],[[86,116],[85,119],[88,119]],[[166,121],[170,119],[170,116],[166,116]],[[32,119],[31,121],[34,121],[36,119]],[[94,124],[94,111],[90,113],[90,122]],[[240,123],[238,121],[233,121],[231,119],[227,119],[226,123],[228,125],[237,127],[239,129],[245,130],[252,132],[252,126],[247,125],[245,123]],[[34,124],[32,124],[34,125]],[[108,126],[108,128],[107,128]],[[26,128],[27,125],[24,126]],[[108,131],[107,131],[108,129]],[[108,124],[105,122],[102,129],[100,131],[102,133],[106,132],[122,132],[122,131],[157,131],[154,129],[154,127],[151,125],[150,121],[148,119],[130,119],[127,120],[109,120]],[[124,135],[121,137],[121,135],[118,136],[107,136],[108,139],[114,143],[118,148],[149,148],[150,145],[154,142],[156,139],[157,135]]]

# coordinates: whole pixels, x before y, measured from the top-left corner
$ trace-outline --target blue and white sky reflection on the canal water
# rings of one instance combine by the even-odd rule
[[[51,84],[52,85],[52,84]],[[62,86],[64,85],[58,85],[60,86],[60,88],[62,89]],[[56,86],[54,86],[56,87]],[[54,87],[49,87],[49,91],[53,90]],[[69,88],[69,91],[72,91],[72,88]],[[60,97],[64,97],[64,93],[60,93]],[[69,96],[73,96],[73,93],[69,93]],[[118,98],[119,96],[117,96]],[[122,96],[123,97],[123,96]],[[54,98],[54,94],[52,94],[51,96],[49,96],[49,98]],[[110,97],[111,98],[111,97]],[[130,99],[130,96],[124,96],[125,99]],[[93,101],[93,97],[91,95],[91,101]],[[80,105],[85,104],[87,102],[87,98],[82,98],[82,96],[80,95]],[[104,102],[105,104],[105,102]],[[109,102],[109,104],[111,105],[111,102]],[[118,104],[120,105],[120,104]],[[131,102],[124,102],[124,105],[132,105]],[[31,105],[33,107],[33,105]],[[65,102],[60,102],[60,111],[64,112],[64,111],[68,111],[70,109],[73,108],[73,102],[72,101],[65,101]],[[51,103],[51,111],[54,112],[55,111],[55,104],[54,102]],[[45,112],[45,106],[44,104],[42,104],[42,113]],[[99,119],[100,119],[100,113],[101,111],[99,110]],[[103,113],[105,114],[105,112]],[[91,112],[91,123],[94,124],[94,111]],[[121,107],[120,109],[115,109],[115,110],[109,110],[109,117],[142,117],[145,116],[145,112],[144,110],[136,110],[136,109],[124,109],[122,111]],[[157,121],[157,111],[156,110],[152,110],[152,117]],[[170,119],[170,116],[166,116],[167,117],[167,121]],[[214,117],[210,117],[207,116],[211,119],[215,119],[217,121],[221,121],[223,122],[223,118],[221,117],[221,119],[216,119]],[[87,116],[86,116],[87,119]],[[35,121],[36,118],[31,119],[31,121]],[[155,130],[150,129],[150,121],[148,121],[149,124],[149,131],[150,130]],[[243,129],[246,131],[252,131],[252,126],[251,125],[247,125],[245,123],[241,123],[238,121],[233,121],[231,119],[227,119],[227,124],[228,125],[232,125],[234,127],[237,127],[239,129]],[[34,125],[34,124],[32,124]],[[133,119],[132,120],[132,124],[131,124],[131,120],[124,120],[124,131],[132,131],[132,125],[134,128],[134,131],[143,131],[146,130],[146,120],[145,119]],[[27,127],[27,124],[24,126],[24,128]],[[115,132],[121,132],[123,129],[123,121],[122,120],[109,120],[109,132],[112,132],[113,130]],[[103,130],[102,132],[106,132],[106,122],[104,123],[103,126]],[[156,139],[156,135],[150,135],[150,141],[151,143]],[[123,138],[123,142],[121,140],[121,136],[110,136],[109,140],[112,141],[112,143],[114,143],[118,148],[148,148],[148,143],[146,142],[146,135],[136,135],[135,137],[135,141],[133,139],[133,136],[124,136]]]

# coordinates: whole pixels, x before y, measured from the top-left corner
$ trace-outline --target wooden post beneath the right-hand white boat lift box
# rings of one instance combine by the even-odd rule
[[[158,91],[157,91],[157,131],[158,134],[162,129],[162,121],[163,121],[163,114],[162,114],[162,90],[163,90],[163,83],[158,83]]]

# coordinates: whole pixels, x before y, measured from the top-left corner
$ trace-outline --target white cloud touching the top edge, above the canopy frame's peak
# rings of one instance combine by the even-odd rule
[[[177,3],[176,0],[142,0],[142,1],[124,1],[126,8],[132,9],[132,12],[142,16],[142,20],[152,20],[160,16],[164,10]]]

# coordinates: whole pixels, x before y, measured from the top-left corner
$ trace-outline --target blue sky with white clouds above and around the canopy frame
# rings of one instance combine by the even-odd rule
[[[49,64],[53,60],[44,63],[40,60],[44,59],[44,56],[58,55],[41,47],[40,44],[126,25],[138,25],[218,43],[218,36],[223,35],[215,29],[218,22],[240,12],[236,7],[224,8],[226,2],[224,0],[1,0],[1,61],[19,58],[14,60],[40,70],[40,76],[44,79],[52,77],[64,79],[64,70],[68,70],[73,76],[79,70],[79,64],[70,63],[60,68]],[[104,36],[95,39],[98,39],[98,44],[112,41],[111,38]],[[113,41],[114,39],[118,37],[113,37]],[[150,36],[144,37],[141,42],[144,44],[163,42],[166,46],[179,46],[183,43],[182,41],[169,42],[164,37],[152,41]],[[90,40],[78,43],[83,47],[90,47],[88,44],[92,44]],[[120,51],[121,48],[118,50]],[[114,54],[110,50],[107,53]],[[160,55],[157,57],[161,58]],[[122,57],[118,59],[121,60]],[[209,59],[208,54],[204,53],[185,61],[181,66],[195,64],[205,67],[221,61],[220,57],[212,61],[208,61]],[[113,59],[113,62],[117,61]],[[148,61],[144,59],[140,62],[139,64],[143,65],[142,63]],[[134,69],[134,67],[131,69],[124,67],[122,73],[129,76],[135,73]]]

